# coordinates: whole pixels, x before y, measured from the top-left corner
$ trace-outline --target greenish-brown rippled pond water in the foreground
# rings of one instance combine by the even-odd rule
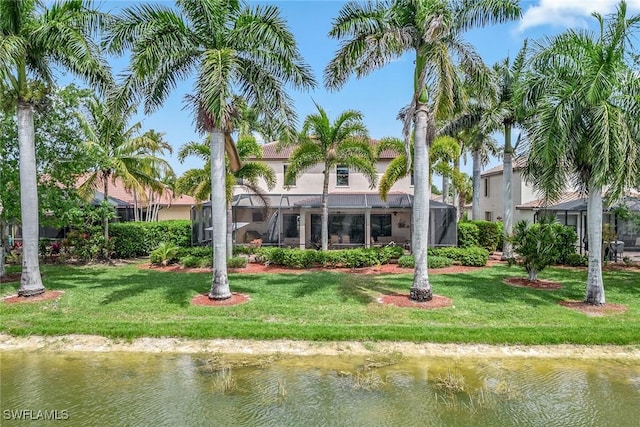
[[[0,356],[2,426],[620,427],[640,420],[640,361]]]

